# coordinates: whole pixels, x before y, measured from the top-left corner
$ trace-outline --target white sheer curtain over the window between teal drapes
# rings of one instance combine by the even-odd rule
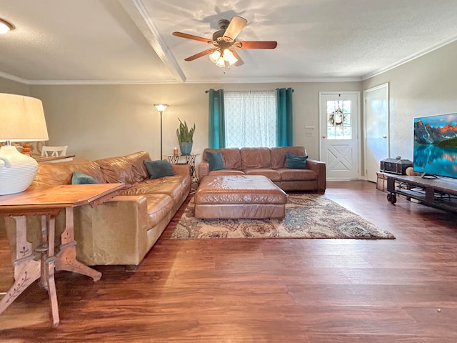
[[[224,91],[226,147],[276,146],[276,91]]]

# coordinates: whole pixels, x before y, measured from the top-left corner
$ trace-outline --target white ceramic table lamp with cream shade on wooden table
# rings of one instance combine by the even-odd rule
[[[48,131],[41,100],[0,93],[0,195],[23,192],[38,172],[38,163],[21,154],[11,141],[47,141]]]

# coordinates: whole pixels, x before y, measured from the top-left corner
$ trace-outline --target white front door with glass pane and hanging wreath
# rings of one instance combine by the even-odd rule
[[[358,179],[359,92],[320,92],[321,161],[327,179]]]

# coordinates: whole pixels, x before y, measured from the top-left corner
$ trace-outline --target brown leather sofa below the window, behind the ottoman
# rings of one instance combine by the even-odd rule
[[[209,171],[206,151],[221,152],[225,169]],[[306,160],[307,169],[286,168],[286,153],[304,156],[303,146],[205,149],[199,178],[206,175],[263,175],[284,191],[326,192],[326,164]]]

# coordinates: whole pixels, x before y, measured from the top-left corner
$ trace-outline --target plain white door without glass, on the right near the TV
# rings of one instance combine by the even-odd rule
[[[365,176],[376,182],[381,160],[389,157],[388,84],[363,91],[365,123]]]

